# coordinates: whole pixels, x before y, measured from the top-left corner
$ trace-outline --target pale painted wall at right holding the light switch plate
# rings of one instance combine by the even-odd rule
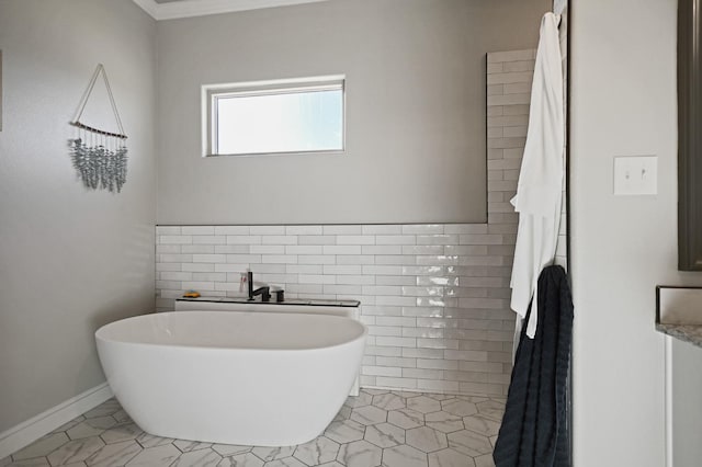
[[[570,8],[575,464],[660,467],[665,345],[654,330],[655,286],[702,284],[677,271],[677,2]],[[613,196],[612,158],[630,155],[658,156],[658,195]],[[678,410],[698,408],[699,394]],[[699,451],[699,431],[688,436]],[[692,458],[675,466],[698,465],[700,454]]]

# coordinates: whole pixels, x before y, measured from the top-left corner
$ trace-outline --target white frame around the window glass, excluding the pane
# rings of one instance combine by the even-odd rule
[[[250,153],[218,153],[217,152],[217,112],[216,100],[233,95],[271,95],[295,92],[314,92],[327,90],[341,90],[341,149],[321,149],[308,151],[275,151]],[[267,81],[248,81],[238,83],[203,84],[201,92],[202,103],[202,155],[203,157],[219,156],[278,156],[278,155],[304,155],[304,153],[343,153],[346,150],[346,76],[331,75],[322,77],[280,79]]]

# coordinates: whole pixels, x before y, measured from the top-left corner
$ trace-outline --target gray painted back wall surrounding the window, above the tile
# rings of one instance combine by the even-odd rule
[[[548,0],[332,0],[158,24],[158,223],[486,220],[485,54]],[[347,75],[343,156],[201,157],[200,87]]]

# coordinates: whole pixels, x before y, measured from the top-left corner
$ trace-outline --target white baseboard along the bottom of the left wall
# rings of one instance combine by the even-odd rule
[[[16,426],[0,433],[0,459],[32,444],[64,423],[82,415],[113,396],[107,383],[71,397]]]

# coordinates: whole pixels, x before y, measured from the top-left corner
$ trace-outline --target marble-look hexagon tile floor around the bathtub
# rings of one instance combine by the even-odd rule
[[[152,436],[110,399],[0,467],[487,467],[503,410],[499,398],[362,389],[316,440],[256,447]]]

